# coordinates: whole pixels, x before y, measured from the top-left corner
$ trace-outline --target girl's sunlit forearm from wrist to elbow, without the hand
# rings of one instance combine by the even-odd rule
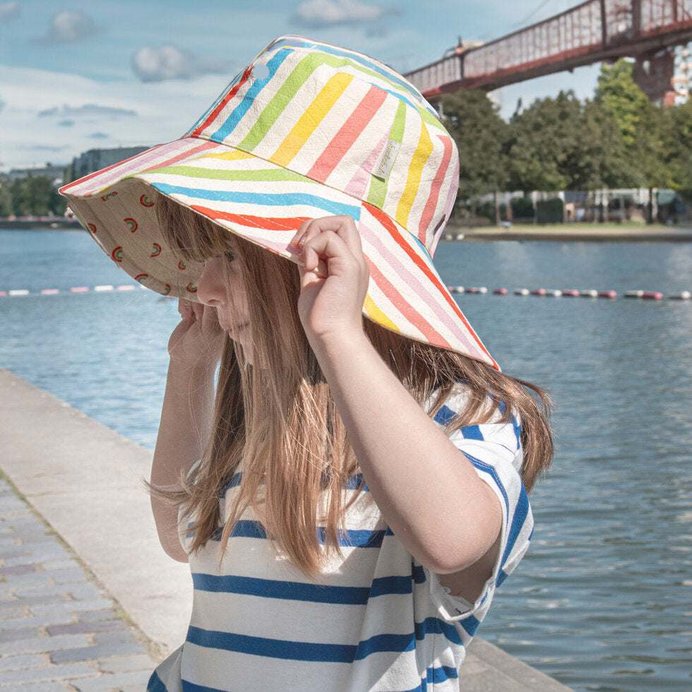
[[[316,355],[371,494],[410,553],[438,573],[487,554],[499,501],[369,340],[333,338]]]

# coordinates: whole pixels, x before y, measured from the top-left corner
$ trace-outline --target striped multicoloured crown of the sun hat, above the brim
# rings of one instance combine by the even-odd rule
[[[304,37],[258,54],[188,136],[369,203],[430,255],[458,188],[453,138],[413,85],[368,56]]]

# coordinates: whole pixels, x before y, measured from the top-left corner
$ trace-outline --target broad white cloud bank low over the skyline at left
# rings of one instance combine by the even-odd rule
[[[145,84],[134,79],[104,81],[0,64],[0,84],[6,102],[0,111],[0,132],[2,164],[7,170],[43,163],[42,152],[51,151],[44,147],[56,148],[54,160],[67,163],[73,156],[104,143],[153,146],[173,141],[214,102],[225,88],[227,77],[209,75],[189,82]],[[84,105],[98,105],[105,112],[85,114]],[[54,115],[39,118],[44,111]],[[137,115],[112,117],[119,111]],[[72,127],[60,126],[65,112],[81,113],[81,117],[73,118]]]

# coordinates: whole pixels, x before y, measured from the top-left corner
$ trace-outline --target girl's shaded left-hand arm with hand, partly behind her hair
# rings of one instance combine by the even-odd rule
[[[215,310],[181,300],[182,321],[168,344],[170,363],[151,468],[151,484],[180,488],[201,458],[209,439],[214,406],[214,372],[220,357],[222,332]],[[187,562],[178,531],[178,508],[151,497],[159,540],[174,560]]]

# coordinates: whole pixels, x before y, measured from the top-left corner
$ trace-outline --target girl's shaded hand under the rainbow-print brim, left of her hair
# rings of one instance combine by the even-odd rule
[[[224,340],[216,309],[180,298],[178,312],[181,322],[168,341],[171,364],[183,370],[214,369]]]

